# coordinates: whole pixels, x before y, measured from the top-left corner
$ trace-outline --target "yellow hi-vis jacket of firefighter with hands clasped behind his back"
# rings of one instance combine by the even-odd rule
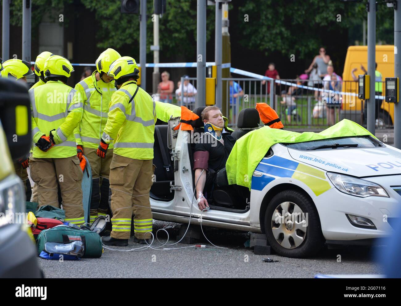
[[[56,145],[43,152],[33,148],[34,158],[63,158],[77,155],[74,129],[82,117],[82,99],[75,89],[61,81],[48,81],[29,91],[32,110],[32,141],[55,129]]]

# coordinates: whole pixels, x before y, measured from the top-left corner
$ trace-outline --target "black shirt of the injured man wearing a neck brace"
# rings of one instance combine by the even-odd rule
[[[200,143],[195,144],[195,152],[209,152],[209,169],[213,169],[215,172],[225,168],[228,156],[235,143],[235,139],[229,133],[223,133],[222,138],[224,145],[209,133],[203,133]]]

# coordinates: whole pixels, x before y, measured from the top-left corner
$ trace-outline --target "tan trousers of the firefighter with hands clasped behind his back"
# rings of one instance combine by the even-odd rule
[[[57,180],[59,181],[64,221],[77,225],[85,223],[81,181],[83,172],[77,155],[65,158],[29,157],[30,176],[38,185],[39,207],[59,206]]]

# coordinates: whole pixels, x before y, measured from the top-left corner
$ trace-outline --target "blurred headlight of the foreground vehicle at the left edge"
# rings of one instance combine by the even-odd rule
[[[0,181],[0,227],[25,222],[25,199],[22,183],[15,174]]]

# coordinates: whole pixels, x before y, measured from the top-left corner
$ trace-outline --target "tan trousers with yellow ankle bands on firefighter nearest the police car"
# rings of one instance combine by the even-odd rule
[[[110,163],[112,238],[130,238],[132,215],[135,237],[151,237],[150,233],[146,232],[152,232],[153,220],[149,201],[152,174],[151,159],[131,159],[113,154]]]

